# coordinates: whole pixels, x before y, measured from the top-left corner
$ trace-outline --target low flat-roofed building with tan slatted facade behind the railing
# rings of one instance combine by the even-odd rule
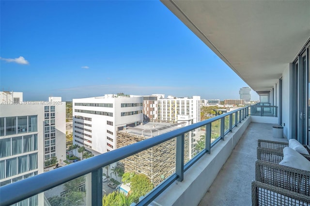
[[[149,138],[156,138],[157,135],[170,132],[186,126],[186,122],[180,123],[158,123],[148,122],[136,127],[126,127],[117,131],[117,147],[125,147]],[[184,161],[191,158],[189,153],[189,132],[184,139]],[[176,140],[171,139],[160,145],[144,150],[139,154],[132,155],[122,162],[125,172],[146,175],[154,186],[157,186],[165,178],[174,173],[175,170],[175,147]],[[165,161],[162,161],[162,160]]]

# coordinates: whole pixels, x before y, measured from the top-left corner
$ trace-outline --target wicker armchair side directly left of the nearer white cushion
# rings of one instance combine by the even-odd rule
[[[310,161],[310,155],[301,154]],[[278,163],[283,160],[283,150],[257,147],[257,160]]]

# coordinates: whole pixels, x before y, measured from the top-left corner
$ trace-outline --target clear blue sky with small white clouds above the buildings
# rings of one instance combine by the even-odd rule
[[[239,99],[248,85],[160,1],[0,1],[0,90]],[[252,92],[252,100],[259,97]]]

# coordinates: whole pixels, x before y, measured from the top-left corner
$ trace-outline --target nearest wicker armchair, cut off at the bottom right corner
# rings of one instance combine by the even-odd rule
[[[309,206],[310,197],[294,191],[252,182],[252,206]]]

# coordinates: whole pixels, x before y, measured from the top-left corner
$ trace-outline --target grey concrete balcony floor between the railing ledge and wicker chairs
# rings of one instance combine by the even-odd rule
[[[199,206],[249,206],[255,179],[258,139],[288,142],[272,137],[273,124],[251,122],[225,162]]]

